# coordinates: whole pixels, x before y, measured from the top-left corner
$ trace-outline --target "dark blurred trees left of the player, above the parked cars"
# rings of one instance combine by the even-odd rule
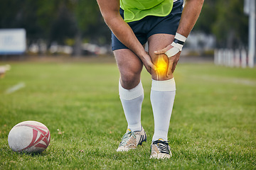
[[[90,0],[1,0],[0,28],[25,28],[28,45],[43,39],[65,44],[75,39],[80,55],[82,39],[107,43],[105,26],[96,1]]]

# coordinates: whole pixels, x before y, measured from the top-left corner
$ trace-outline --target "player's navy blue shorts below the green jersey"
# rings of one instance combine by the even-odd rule
[[[132,28],[134,34],[138,38],[139,42],[144,45],[147,39],[157,33],[165,33],[175,35],[178,29],[178,23],[181,19],[181,13],[183,10],[183,0],[174,2],[174,6],[168,16],[146,16],[139,21],[133,21],[128,23]],[[124,18],[124,11],[120,8],[120,14]],[[112,33],[112,50],[128,49],[120,42],[116,36]]]

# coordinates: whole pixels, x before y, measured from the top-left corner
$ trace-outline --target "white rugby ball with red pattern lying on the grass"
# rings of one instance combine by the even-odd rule
[[[8,143],[15,152],[41,153],[50,143],[50,131],[36,121],[24,121],[11,129]]]

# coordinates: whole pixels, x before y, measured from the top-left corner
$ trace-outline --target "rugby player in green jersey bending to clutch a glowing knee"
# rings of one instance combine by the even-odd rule
[[[97,0],[112,30],[112,50],[120,72],[119,97],[127,120],[127,132],[117,152],[136,149],[146,141],[141,124],[144,90],[143,65],[151,74],[151,106],[154,136],[150,158],[171,157],[168,130],[176,85],[174,69],[183,44],[195,25],[203,0]],[[148,52],[144,45],[148,42]]]

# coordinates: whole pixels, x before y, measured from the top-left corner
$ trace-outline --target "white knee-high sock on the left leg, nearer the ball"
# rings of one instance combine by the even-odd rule
[[[141,112],[142,101],[144,99],[144,90],[142,82],[134,89],[124,89],[119,81],[119,96],[124,109],[124,115],[127,119],[128,128],[132,131],[142,130]]]

